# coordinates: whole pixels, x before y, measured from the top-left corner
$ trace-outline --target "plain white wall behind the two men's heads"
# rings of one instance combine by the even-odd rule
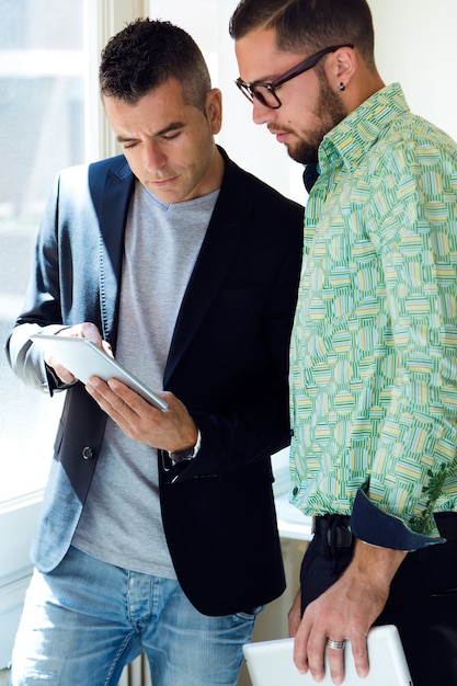
[[[454,54],[456,0],[368,0],[376,31],[376,55],[386,83],[400,81],[413,112],[457,138]],[[305,201],[301,168],[265,127],[251,121],[250,105],[233,84],[238,77],[228,35],[238,0],[150,0],[150,16],[169,19],[193,35],[210,60],[214,84],[221,88],[225,123],[219,141],[242,167],[299,202]]]

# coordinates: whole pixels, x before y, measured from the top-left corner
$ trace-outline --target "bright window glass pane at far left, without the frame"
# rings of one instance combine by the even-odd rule
[[[84,159],[83,13],[79,0],[9,0],[0,24],[0,334],[21,310],[53,178]],[[59,402],[19,384],[0,358],[0,502],[43,487]],[[3,475],[5,473],[5,478]]]

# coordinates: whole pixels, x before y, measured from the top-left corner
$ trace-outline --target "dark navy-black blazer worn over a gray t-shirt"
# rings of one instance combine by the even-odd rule
[[[288,341],[304,214],[221,152],[220,194],[163,378],[163,388],[186,404],[201,428],[202,449],[179,475],[159,451],[171,557],[184,592],[207,615],[262,605],[285,585],[270,455],[290,437]],[[41,327],[92,321],[115,350],[133,186],[123,156],[58,176],[41,225],[24,311],[7,344],[10,364],[25,382],[56,390],[56,379],[28,341]],[[81,384],[67,390],[32,549],[43,571],[54,569],[71,544],[105,421]]]

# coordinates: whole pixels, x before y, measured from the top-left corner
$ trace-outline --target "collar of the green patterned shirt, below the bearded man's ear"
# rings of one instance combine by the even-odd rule
[[[319,148],[319,167],[324,171],[342,160],[357,167],[392,119],[409,111],[399,83],[377,91],[327,134]]]

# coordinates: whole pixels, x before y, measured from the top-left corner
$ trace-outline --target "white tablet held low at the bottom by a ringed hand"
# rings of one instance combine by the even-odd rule
[[[374,627],[367,643],[369,673],[363,679],[355,671],[351,644],[346,644],[343,686],[412,686],[397,627]],[[304,676],[294,664],[294,639],[247,643],[243,653],[253,686],[316,686],[311,674]],[[334,686],[329,671],[320,686]]]

